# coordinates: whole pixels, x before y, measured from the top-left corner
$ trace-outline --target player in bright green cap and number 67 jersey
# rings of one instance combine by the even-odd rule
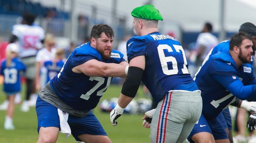
[[[129,71],[118,104],[110,113],[113,126],[135,97],[142,81],[158,102],[152,123],[152,143],[183,142],[200,117],[202,99],[189,71],[180,42],[158,31],[163,20],[153,5],[135,8],[131,15],[139,36],[127,41]]]

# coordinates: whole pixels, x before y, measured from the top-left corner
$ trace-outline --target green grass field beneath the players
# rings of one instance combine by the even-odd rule
[[[2,85],[0,85],[0,104],[5,100],[5,94],[2,91]],[[110,85],[101,101],[112,97],[119,97],[121,86]],[[24,99],[25,86],[23,85],[21,94]],[[147,98],[144,96],[142,87],[135,97]],[[27,113],[19,110],[20,105],[15,106],[15,113],[13,117],[13,123],[15,130],[5,130],[3,128],[5,111],[0,110],[0,143],[35,143],[38,138],[37,133],[37,115],[35,107],[30,107],[30,111]],[[124,114],[118,119],[118,125],[113,127],[109,113],[100,112],[98,107],[93,110],[95,116],[101,122],[103,128],[107,132],[112,143],[148,143],[150,142],[149,134],[150,129],[142,126],[143,115],[127,115]],[[65,138],[63,133],[59,133],[57,143],[75,143],[73,136]]]

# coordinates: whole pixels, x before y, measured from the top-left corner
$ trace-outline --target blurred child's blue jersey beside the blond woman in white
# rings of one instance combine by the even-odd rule
[[[56,66],[53,66],[52,61],[45,61],[44,66],[47,69],[47,79],[46,83],[53,79],[54,76],[56,76],[60,71],[61,68],[63,67],[64,62],[62,60],[59,60],[56,62]]]

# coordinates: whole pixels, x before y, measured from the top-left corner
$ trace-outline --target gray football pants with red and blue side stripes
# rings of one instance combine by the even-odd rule
[[[183,143],[202,111],[199,90],[172,90],[158,103],[151,122],[151,143]]]

